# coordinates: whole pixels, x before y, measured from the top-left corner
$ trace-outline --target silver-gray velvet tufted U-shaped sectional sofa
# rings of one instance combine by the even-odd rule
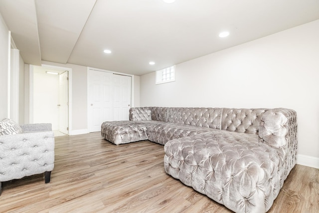
[[[167,174],[239,213],[267,212],[296,164],[291,109],[131,108],[130,121],[104,122],[101,134],[163,144]]]

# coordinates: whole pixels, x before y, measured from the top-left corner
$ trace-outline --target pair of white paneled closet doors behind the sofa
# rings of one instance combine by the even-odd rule
[[[104,121],[129,120],[131,76],[88,71],[88,128],[101,131]]]

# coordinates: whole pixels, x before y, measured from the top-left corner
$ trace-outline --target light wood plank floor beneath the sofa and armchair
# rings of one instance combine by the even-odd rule
[[[43,175],[2,183],[0,212],[229,213],[167,175],[163,146],[116,146],[99,132],[55,138],[51,182]],[[296,165],[270,213],[318,213],[319,170]]]

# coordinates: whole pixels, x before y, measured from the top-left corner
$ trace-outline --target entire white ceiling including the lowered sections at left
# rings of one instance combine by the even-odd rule
[[[319,0],[0,0],[0,13],[25,63],[143,75],[317,20]]]

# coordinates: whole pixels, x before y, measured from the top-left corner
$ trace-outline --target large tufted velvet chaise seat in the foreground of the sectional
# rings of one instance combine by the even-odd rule
[[[165,172],[232,211],[267,212],[281,189],[284,152],[258,136],[229,133],[168,141]]]

